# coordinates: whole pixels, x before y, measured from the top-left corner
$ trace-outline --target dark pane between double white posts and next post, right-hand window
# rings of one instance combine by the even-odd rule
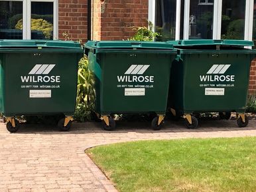
[[[206,2],[206,1],[205,1]],[[190,39],[212,39],[214,5],[200,5],[198,0],[190,0]]]

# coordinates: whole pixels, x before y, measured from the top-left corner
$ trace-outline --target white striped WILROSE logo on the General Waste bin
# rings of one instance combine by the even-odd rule
[[[235,81],[235,75],[222,75],[231,65],[212,65],[208,75],[200,75],[200,81],[204,82],[223,82],[223,81]]]

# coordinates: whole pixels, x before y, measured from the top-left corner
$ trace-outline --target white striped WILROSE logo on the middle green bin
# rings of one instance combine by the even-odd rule
[[[150,65],[131,65],[125,75],[117,76],[118,82],[154,82],[154,76],[143,76]],[[139,75],[139,76],[138,76]]]

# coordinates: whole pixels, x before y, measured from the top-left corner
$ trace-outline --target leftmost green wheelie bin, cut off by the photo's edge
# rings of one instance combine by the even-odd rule
[[[76,42],[0,40],[0,111],[10,132],[17,115],[65,115],[58,127],[68,131],[83,51]]]

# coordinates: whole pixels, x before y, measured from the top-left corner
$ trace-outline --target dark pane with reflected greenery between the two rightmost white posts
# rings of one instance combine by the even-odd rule
[[[222,39],[243,40],[245,0],[222,1]]]

